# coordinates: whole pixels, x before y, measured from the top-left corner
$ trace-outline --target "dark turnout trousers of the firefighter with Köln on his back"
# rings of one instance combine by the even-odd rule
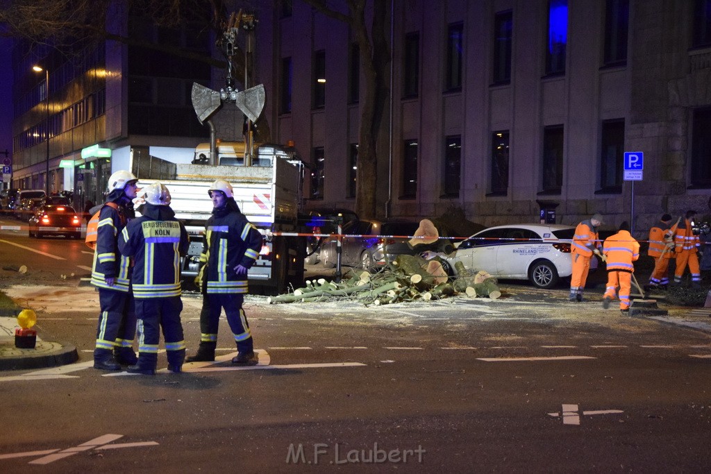
[[[139,355],[138,366],[142,369],[154,369],[158,362],[158,343],[161,328],[166,345],[168,363],[180,367],[185,360],[185,339],[180,313],[183,301],[180,296],[166,298],[138,298],[136,316],[138,317]]]

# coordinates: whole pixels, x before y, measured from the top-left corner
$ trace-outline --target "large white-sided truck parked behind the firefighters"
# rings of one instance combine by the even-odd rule
[[[168,187],[171,208],[186,225],[191,244],[182,264],[184,284],[189,286],[200,270],[205,222],[213,210],[208,189],[216,179],[232,184],[240,210],[264,235],[262,252],[249,272],[250,292],[282,293],[289,284],[296,287],[303,282],[306,239],[272,235],[299,232],[302,162],[294,151],[274,145],[260,146],[255,158],[252,166],[177,164],[173,179],[137,175],[139,188],[154,181]]]

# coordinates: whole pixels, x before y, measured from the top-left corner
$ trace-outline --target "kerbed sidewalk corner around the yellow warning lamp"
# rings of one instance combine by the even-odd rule
[[[16,316],[22,311],[0,292],[0,370],[26,370],[71,364],[79,359],[73,345],[52,343],[37,338],[34,349],[15,347]]]

